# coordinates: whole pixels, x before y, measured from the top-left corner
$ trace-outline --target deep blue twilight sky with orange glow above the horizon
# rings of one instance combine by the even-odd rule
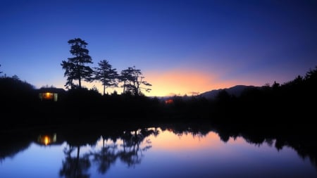
[[[77,37],[89,66],[141,70],[147,96],[282,84],[317,65],[314,0],[1,0],[0,27],[1,75],[37,88],[64,88],[61,61]]]

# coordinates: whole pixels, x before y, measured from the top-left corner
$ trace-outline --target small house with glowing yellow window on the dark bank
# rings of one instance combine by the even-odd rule
[[[58,101],[66,93],[64,89],[41,88],[37,90],[41,101]]]

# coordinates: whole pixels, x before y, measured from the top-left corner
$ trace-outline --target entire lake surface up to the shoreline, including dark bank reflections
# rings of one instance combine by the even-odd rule
[[[17,141],[16,138],[20,139]],[[317,176],[316,138],[304,132],[294,134],[285,130],[278,132],[272,129],[216,127],[196,123],[124,129],[107,127],[56,129],[53,132],[6,132],[0,134],[0,139],[1,177],[23,176],[22,173],[10,172],[10,162],[7,158],[13,160],[11,170],[20,168],[22,163],[14,162],[15,155],[22,153],[21,151],[27,154],[27,151],[35,150],[33,144],[45,148],[42,151],[45,151],[46,155],[48,153],[54,156],[51,152],[54,146],[61,153],[56,166],[44,163],[56,169],[53,171],[56,176],[50,177],[99,177],[104,174],[111,176],[115,170],[120,170],[120,173],[116,172],[117,177],[120,177],[120,174],[126,175],[127,172],[133,172],[130,177],[147,177],[151,174],[149,171],[156,172],[157,175],[152,175],[154,177],[288,177],[292,174],[295,177]],[[252,146],[261,149],[254,149]],[[286,152],[283,148],[287,148]],[[311,172],[311,167],[304,167],[306,165],[300,163],[298,156],[290,157],[292,149],[302,160],[309,158],[315,172]],[[282,154],[290,158],[282,159]],[[39,155],[39,152],[35,151],[35,155],[30,156],[40,159]],[[145,163],[144,155],[147,155]],[[24,162],[33,164],[29,159]],[[284,168],[280,164],[285,164]],[[139,172],[134,169],[136,167]],[[292,169],[287,170],[285,167]],[[160,170],[178,172],[168,174]],[[255,170],[262,175],[256,174]],[[27,171],[40,175],[38,167]]]

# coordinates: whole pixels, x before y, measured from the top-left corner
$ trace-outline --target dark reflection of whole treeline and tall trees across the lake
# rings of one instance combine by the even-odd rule
[[[261,144],[267,143],[268,146],[273,146],[278,151],[287,146],[297,151],[302,159],[309,158],[311,164],[317,168],[316,125],[249,127],[247,125],[210,125],[204,122],[194,122],[192,124],[161,124],[156,125],[155,128],[131,127],[129,126],[127,129],[126,127],[112,128],[111,126],[96,130],[80,127],[54,130],[54,133],[56,132],[58,135],[54,145],[68,143],[63,150],[65,158],[62,160],[59,175],[79,178],[90,177],[89,172],[94,171],[106,174],[117,160],[128,167],[135,167],[141,163],[144,151],[151,148],[149,136],[156,137],[160,131],[166,130],[180,136],[192,134],[198,137],[206,136],[209,132],[216,132],[223,142],[227,142],[230,138],[242,137],[249,144],[261,146]],[[17,153],[27,150],[32,143],[39,146],[49,145],[39,143],[37,138],[42,135],[39,134],[41,132],[42,130],[33,132],[27,130],[0,134],[0,163],[5,162],[6,158],[13,158]],[[86,147],[87,145],[91,147]],[[84,153],[80,153],[80,151]],[[93,165],[97,170],[91,170],[94,169]]]

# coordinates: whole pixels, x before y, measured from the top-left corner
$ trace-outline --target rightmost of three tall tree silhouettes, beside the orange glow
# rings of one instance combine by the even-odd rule
[[[129,67],[126,70],[122,70],[120,81],[123,82],[123,93],[131,92],[135,96],[139,96],[142,95],[142,89],[147,92],[151,91],[151,89],[149,88],[141,87],[142,85],[145,85],[147,87],[152,86],[143,79],[144,77],[142,76],[141,70],[135,69],[135,66],[133,66],[133,68]]]

